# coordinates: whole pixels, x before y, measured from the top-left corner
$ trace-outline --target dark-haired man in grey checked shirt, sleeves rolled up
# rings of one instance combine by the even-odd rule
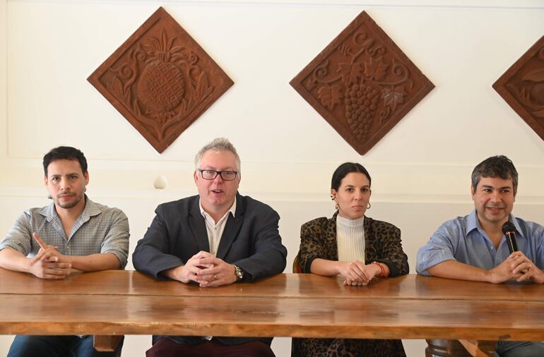
[[[64,279],[74,270],[123,269],[129,253],[129,221],[117,208],[91,201],[87,160],[74,147],[56,147],[43,159],[53,202],[23,212],[0,243],[0,267],[42,279]],[[97,352],[92,336],[17,336],[9,357],[119,356]]]

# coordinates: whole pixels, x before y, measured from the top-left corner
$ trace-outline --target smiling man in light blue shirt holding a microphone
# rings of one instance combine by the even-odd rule
[[[475,210],[444,222],[420,248],[418,274],[478,282],[544,282],[544,227],[514,217],[518,173],[505,156],[494,156],[472,172]],[[502,225],[516,227],[519,251],[510,253]],[[499,341],[495,356],[544,356],[544,344]]]

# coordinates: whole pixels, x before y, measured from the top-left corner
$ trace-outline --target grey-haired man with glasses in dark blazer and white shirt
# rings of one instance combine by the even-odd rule
[[[287,250],[278,213],[240,195],[240,157],[225,138],[195,157],[199,195],[163,203],[132,255],[134,267],[158,279],[201,287],[252,282],[283,272]],[[271,338],[154,336],[146,356],[274,356]],[[219,356],[219,354],[218,354]]]

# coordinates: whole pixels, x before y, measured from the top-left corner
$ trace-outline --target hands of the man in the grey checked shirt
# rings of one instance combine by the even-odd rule
[[[33,233],[32,236],[40,246],[40,250],[34,258],[30,258],[30,273],[42,279],[55,280],[64,279],[73,272],[66,255],[62,255],[57,250],[59,247],[47,246],[37,233]]]

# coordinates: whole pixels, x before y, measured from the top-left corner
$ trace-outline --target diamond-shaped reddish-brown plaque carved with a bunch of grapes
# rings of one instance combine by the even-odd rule
[[[361,155],[434,88],[365,11],[290,84]]]

